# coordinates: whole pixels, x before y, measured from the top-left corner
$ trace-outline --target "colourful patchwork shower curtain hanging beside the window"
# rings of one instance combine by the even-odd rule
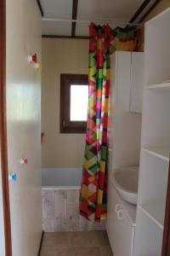
[[[108,113],[110,56],[118,50],[139,50],[140,31],[89,26],[88,124],[82,172],[80,214],[99,222],[107,213]]]

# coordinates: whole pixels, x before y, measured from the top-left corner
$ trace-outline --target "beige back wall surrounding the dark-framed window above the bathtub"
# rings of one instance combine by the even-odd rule
[[[88,73],[88,40],[42,39],[42,167],[80,167],[85,135],[59,133],[60,73]]]

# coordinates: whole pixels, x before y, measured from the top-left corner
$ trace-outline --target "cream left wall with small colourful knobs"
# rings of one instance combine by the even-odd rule
[[[14,256],[37,256],[42,233],[41,71],[27,55],[41,60],[41,16],[35,0],[7,0],[8,171]],[[21,157],[28,165],[20,165]]]

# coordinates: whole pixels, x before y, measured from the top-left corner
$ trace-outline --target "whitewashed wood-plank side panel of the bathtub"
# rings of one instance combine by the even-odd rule
[[[43,187],[42,218],[45,232],[105,230],[79,215],[80,187]]]

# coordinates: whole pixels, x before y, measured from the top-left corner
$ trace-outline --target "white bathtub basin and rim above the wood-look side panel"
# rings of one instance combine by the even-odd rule
[[[42,188],[80,189],[82,167],[42,168]]]

